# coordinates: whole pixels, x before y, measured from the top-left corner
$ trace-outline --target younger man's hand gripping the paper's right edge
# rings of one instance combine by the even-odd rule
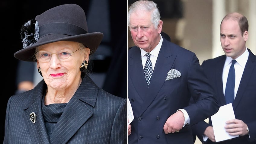
[[[244,136],[249,134],[247,131],[247,124],[244,123],[242,120],[233,119],[226,121],[226,132],[229,133],[229,135],[235,136]]]

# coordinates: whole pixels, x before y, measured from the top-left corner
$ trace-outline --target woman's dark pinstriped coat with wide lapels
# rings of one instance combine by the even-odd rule
[[[34,89],[8,100],[4,144],[127,143],[127,99],[98,88],[85,76],[48,138],[42,115],[42,80]],[[36,122],[30,121],[34,112]]]

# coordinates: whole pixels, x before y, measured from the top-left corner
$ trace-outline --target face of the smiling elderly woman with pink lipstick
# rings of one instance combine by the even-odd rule
[[[88,49],[88,48],[87,48]],[[53,89],[79,85],[82,62],[88,62],[89,51],[79,49],[78,43],[58,41],[39,47],[36,54],[37,68],[43,79]]]

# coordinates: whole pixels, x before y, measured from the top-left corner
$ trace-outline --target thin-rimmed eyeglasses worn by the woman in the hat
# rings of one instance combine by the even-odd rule
[[[80,49],[78,49],[78,50],[80,50]],[[49,52],[45,52],[45,51],[40,51],[40,52],[36,53],[36,58],[38,61],[41,61],[41,62],[50,62],[52,55],[56,54],[59,60],[64,61],[64,60],[68,59],[70,56],[72,56],[72,54],[78,50],[75,50],[74,52],[72,52],[70,50],[60,50],[60,51],[58,51],[58,53],[49,53]]]

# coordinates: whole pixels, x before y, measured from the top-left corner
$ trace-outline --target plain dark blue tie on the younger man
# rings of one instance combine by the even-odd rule
[[[227,79],[227,84],[226,84],[226,90],[225,90],[225,100],[226,104],[232,103],[235,98],[235,64],[236,60],[232,60],[232,64],[229,68],[229,75]]]

